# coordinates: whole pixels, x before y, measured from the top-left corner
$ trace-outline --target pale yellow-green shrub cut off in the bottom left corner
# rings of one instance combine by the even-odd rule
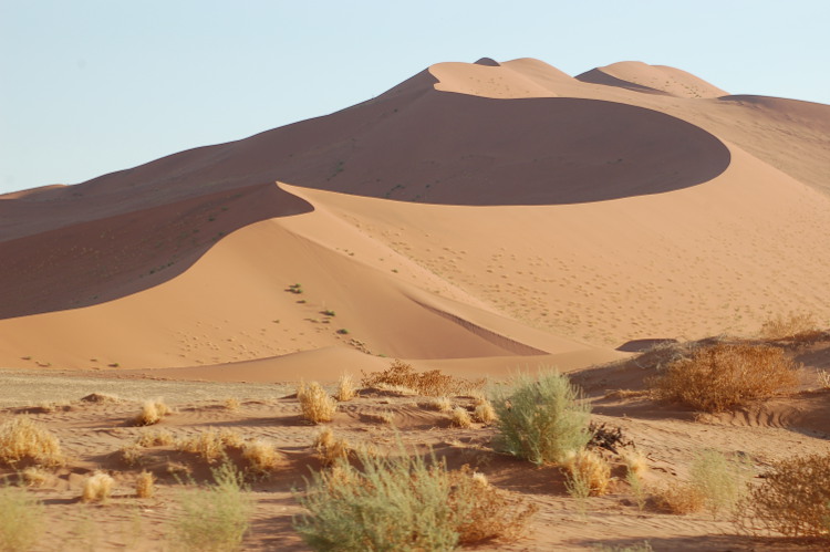
[[[43,532],[43,504],[19,487],[0,486],[0,552],[31,550]]]

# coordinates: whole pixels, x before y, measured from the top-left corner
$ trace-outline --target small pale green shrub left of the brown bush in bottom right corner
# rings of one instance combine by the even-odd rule
[[[712,515],[733,510],[746,491],[751,477],[747,461],[730,460],[717,450],[703,450],[695,455],[689,470],[689,485],[703,496],[704,506]]]

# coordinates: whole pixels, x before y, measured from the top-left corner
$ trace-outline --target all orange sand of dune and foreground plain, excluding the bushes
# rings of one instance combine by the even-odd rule
[[[394,358],[491,381],[568,372],[594,418],[647,452],[655,483],[683,477],[704,447],[751,454],[759,468],[826,451],[826,393],[810,390],[830,367],[821,341],[789,350],[805,363],[796,394],[745,412],[603,397],[644,388],[630,364],[637,342],[751,336],[789,312],[830,326],[828,175],[830,106],[729,95],[641,62],[571,77],[539,60],[483,59],[433,65],[325,117],[0,196],[0,421],[70,402],[32,410],[72,457],[33,491],[55,522],[43,550],[66,531],[77,546],[95,534],[98,549],[123,546],[138,525],[137,549],[163,542],[155,522],[175,509],[175,486],[131,498],[135,470],[112,459],[136,435],[125,419],[158,395],[179,409],[164,425],[183,436],[236,427],[289,452],[290,469],[255,486],[246,548],[304,550],[290,491],[314,466],[315,429],[286,396]],[[76,403],[113,387],[125,402]],[[238,410],[222,408],[230,397]],[[558,468],[529,470],[492,450],[491,427],[449,428],[411,397],[362,397],[335,427],[392,442],[361,416],[383,400],[407,441],[456,464],[479,455],[495,485],[540,506],[525,540],[494,549],[789,545],[704,514],[640,512],[624,486],[585,517]],[[160,470],[172,452],[153,454]],[[98,466],[121,498],[81,509],[81,476]]]

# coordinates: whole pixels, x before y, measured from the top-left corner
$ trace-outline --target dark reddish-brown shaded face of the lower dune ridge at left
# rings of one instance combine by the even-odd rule
[[[82,207],[74,206],[81,217]],[[0,319],[87,306],[149,289],[183,273],[239,228],[311,210],[303,199],[267,184],[0,241]]]

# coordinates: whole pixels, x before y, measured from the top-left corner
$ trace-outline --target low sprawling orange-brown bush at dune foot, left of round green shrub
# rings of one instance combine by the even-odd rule
[[[395,361],[383,372],[363,373],[361,385],[375,387],[380,385],[408,387],[419,395],[428,397],[444,397],[449,395],[466,395],[484,386],[484,379],[469,381],[442,374],[438,369],[415,372],[412,365]]]

